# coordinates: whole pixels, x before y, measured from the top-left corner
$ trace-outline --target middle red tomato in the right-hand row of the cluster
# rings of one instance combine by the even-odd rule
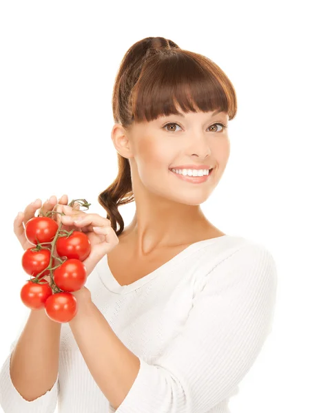
[[[86,282],[87,271],[85,264],[76,258],[66,260],[54,270],[54,283],[63,291],[78,291]]]

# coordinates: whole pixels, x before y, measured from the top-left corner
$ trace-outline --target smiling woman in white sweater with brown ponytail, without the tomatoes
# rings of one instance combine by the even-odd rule
[[[107,218],[75,212],[65,195],[57,209],[91,237],[92,274],[69,323],[30,312],[1,369],[5,412],[50,413],[57,401],[61,413],[229,412],[271,331],[277,284],[265,246],[200,209],[225,171],[236,108],[205,56],[163,37],[130,47],[112,99],[118,176],[99,195]],[[124,229],[118,207],[133,200]],[[40,206],[15,223],[21,245]]]

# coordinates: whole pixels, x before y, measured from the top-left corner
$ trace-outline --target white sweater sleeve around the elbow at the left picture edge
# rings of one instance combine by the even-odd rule
[[[26,318],[26,317],[25,317]],[[22,330],[25,321],[21,323]],[[37,399],[28,401],[23,399],[21,394],[14,387],[10,377],[10,359],[14,346],[19,339],[10,345],[10,351],[0,370],[0,405],[5,413],[54,413],[59,392],[59,374],[53,387]]]

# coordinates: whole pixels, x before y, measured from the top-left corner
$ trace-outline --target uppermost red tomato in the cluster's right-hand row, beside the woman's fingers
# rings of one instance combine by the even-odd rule
[[[61,257],[76,258],[83,261],[90,255],[90,240],[81,231],[74,231],[67,237],[59,237],[56,241],[56,251]]]

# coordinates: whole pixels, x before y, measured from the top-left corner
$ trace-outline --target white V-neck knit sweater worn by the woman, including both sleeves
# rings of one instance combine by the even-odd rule
[[[53,413],[57,402],[59,413],[230,412],[272,329],[277,273],[265,246],[232,235],[195,242],[128,286],[116,282],[104,256],[85,285],[141,362],[123,403],[110,405],[65,323],[56,383],[34,401],[12,385],[13,341],[0,371],[5,413]]]

